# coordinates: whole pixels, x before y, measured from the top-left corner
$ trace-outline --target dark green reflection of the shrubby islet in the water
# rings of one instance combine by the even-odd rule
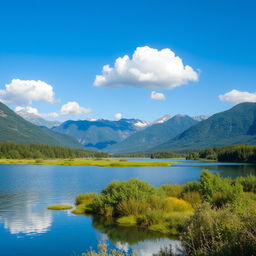
[[[94,216],[92,225],[102,233],[105,233],[113,243],[137,244],[145,240],[157,240],[171,238],[159,232],[153,232],[136,226],[118,225],[112,218]]]

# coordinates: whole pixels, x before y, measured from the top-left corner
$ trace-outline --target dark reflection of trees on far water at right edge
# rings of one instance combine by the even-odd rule
[[[256,175],[256,165],[238,164],[238,165],[209,165],[200,166],[200,169],[208,169],[210,171],[218,171],[222,177],[236,178],[238,176],[247,176],[249,174]]]

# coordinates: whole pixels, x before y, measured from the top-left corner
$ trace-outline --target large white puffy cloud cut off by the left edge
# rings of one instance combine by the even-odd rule
[[[16,105],[31,105],[33,101],[53,103],[53,87],[40,80],[12,79],[10,84],[0,90],[0,100],[4,103]]]

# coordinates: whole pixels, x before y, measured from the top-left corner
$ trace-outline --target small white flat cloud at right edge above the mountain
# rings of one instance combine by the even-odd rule
[[[238,90],[232,90],[225,94],[219,95],[221,101],[229,103],[242,103],[242,102],[256,102],[256,93],[241,92]]]

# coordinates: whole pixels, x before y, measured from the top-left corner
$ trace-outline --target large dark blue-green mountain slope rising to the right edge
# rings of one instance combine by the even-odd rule
[[[255,144],[256,103],[241,103],[217,113],[152,150]]]

